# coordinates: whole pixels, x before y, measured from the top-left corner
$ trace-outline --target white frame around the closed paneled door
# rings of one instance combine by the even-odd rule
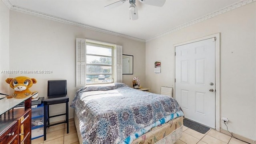
[[[215,89],[216,89],[216,92],[215,92],[215,129],[220,132],[220,33],[212,34],[209,36],[204,36],[202,38],[196,38],[194,40],[189,40],[189,41],[181,42],[178,44],[174,44],[173,50],[174,50],[174,54],[175,54],[176,46],[190,44],[193,42],[198,42],[198,41],[202,41],[202,40],[206,40],[206,39],[214,38],[214,37],[216,38],[216,40],[215,40],[215,83],[216,83],[216,85],[215,85]],[[173,59],[174,59],[173,60],[173,62],[174,62],[173,63],[174,64],[173,77],[175,78],[176,57],[174,56]],[[175,89],[176,89],[175,80],[173,80],[173,86],[174,86],[173,98],[175,98]]]

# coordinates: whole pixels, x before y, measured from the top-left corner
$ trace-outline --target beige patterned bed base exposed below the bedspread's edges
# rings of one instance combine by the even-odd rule
[[[79,143],[82,144],[83,140],[80,132],[79,120],[75,113],[74,121]],[[132,144],[174,144],[182,137],[182,128],[183,116],[170,120],[166,124],[152,128],[150,132],[135,139]]]

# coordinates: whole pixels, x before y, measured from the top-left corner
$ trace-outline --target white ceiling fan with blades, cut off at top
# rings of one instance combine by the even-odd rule
[[[130,19],[132,16],[132,20],[137,20],[139,18],[139,16],[138,16],[138,8],[135,4],[136,0],[119,0],[117,2],[114,2],[112,4],[105,6],[104,8],[114,8],[116,6],[122,5],[126,1],[129,1],[129,3],[130,3],[130,7],[129,7]],[[138,0],[138,1],[140,1],[143,4],[148,4],[151,6],[163,6],[165,3],[165,0]]]

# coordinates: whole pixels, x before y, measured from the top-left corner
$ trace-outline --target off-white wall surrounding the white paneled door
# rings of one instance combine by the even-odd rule
[[[146,87],[173,87],[174,44],[219,32],[220,117],[229,119],[231,132],[256,139],[256,2],[146,42]],[[156,60],[161,74],[154,74]]]

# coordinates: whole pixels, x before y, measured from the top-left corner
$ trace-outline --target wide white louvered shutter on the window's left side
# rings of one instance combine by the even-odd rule
[[[86,39],[76,38],[76,87],[86,85]]]

